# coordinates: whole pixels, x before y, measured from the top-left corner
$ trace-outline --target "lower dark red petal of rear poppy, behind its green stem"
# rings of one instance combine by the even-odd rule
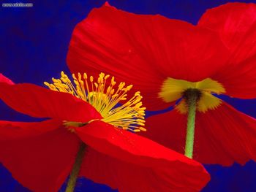
[[[176,110],[147,119],[146,137],[184,153],[187,115]],[[165,133],[165,134],[163,134]],[[245,164],[256,160],[256,120],[223,103],[197,112],[193,158],[203,164]]]

